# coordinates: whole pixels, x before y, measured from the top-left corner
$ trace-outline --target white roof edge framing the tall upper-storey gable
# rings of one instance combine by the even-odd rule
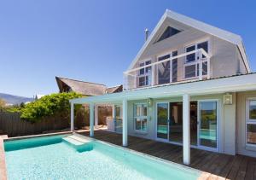
[[[251,72],[250,67],[249,67],[249,62],[247,60],[246,51],[245,51],[245,48],[243,46],[241,37],[239,35],[236,35],[232,32],[224,31],[222,29],[219,29],[218,27],[208,25],[208,24],[206,24],[204,22],[201,22],[199,20],[194,20],[192,18],[189,18],[188,16],[177,14],[177,13],[175,13],[175,12],[169,10],[169,9],[166,9],[166,13],[161,17],[158,24],[154,27],[153,32],[150,34],[148,40],[143,44],[142,49],[139,50],[135,59],[131,62],[131,65],[128,68],[128,70],[130,70],[130,69],[132,69],[132,67],[134,67],[134,65],[136,64],[138,59],[141,57],[141,55],[143,55],[144,50],[148,47],[151,40],[154,38],[156,33],[159,31],[160,26],[163,24],[163,22],[167,18],[170,18],[172,20],[177,20],[178,22],[183,23],[187,26],[191,26],[195,29],[198,29],[201,32],[206,32],[208,34],[211,34],[212,36],[224,39],[225,41],[228,41],[231,44],[236,44],[237,48],[239,49],[239,51],[241,53],[241,57],[244,61],[244,64],[247,68],[247,72],[248,73]]]

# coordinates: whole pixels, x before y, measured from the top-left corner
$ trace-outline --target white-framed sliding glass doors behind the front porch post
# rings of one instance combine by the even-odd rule
[[[183,143],[183,102],[156,104],[157,139]],[[190,143],[198,148],[218,151],[218,101],[190,102]]]

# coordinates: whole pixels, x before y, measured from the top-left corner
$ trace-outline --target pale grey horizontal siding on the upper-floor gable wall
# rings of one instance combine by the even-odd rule
[[[167,25],[166,25],[167,26]],[[158,37],[158,36],[156,36]],[[236,75],[237,73],[247,73],[241,55],[235,44],[231,44],[223,39],[213,37],[210,34],[201,32],[191,27],[187,27],[183,32],[177,33],[171,38],[166,38],[154,43],[152,40],[148,48],[145,49],[139,61],[157,61],[157,57],[170,54],[177,50],[177,54],[183,54],[184,48],[190,44],[200,43],[209,40],[209,54],[211,57],[211,78]],[[177,60],[177,81],[183,80],[183,65],[185,57]],[[135,65],[138,67],[138,63]],[[157,84],[157,67],[154,67],[154,84]]]

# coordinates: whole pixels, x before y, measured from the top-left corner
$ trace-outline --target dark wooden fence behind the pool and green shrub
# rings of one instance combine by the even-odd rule
[[[111,107],[100,107],[98,110],[99,125],[106,125],[107,116],[112,115]],[[78,111],[75,114],[74,126],[76,129],[89,125],[89,111]],[[53,117],[47,117],[37,123],[31,123],[20,119],[20,113],[0,112],[0,134],[8,136],[26,136],[44,133],[44,131],[57,131],[70,127],[69,115],[59,113]]]

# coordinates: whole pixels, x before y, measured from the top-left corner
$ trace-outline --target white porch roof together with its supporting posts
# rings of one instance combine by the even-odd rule
[[[128,102],[134,100],[148,100],[154,98],[174,98],[182,97],[183,102],[183,146],[178,148],[180,152],[180,159],[183,160],[184,165],[189,165],[192,159],[192,163],[197,160],[191,158],[190,153],[190,111],[189,102],[191,96],[212,95],[219,93],[232,93],[245,90],[256,90],[256,74],[239,75],[234,77],[224,77],[208,80],[199,80],[195,82],[175,84],[175,85],[162,85],[154,88],[145,88],[143,90],[125,90],[120,93],[103,95],[103,96],[90,96],[84,98],[78,98],[70,100],[71,102],[71,131],[73,128],[73,106],[74,104],[90,104],[90,136],[94,136],[95,129],[95,107],[99,104],[122,106],[122,145],[127,147],[130,139],[128,139]],[[154,117],[152,118],[154,120]],[[225,126],[232,126],[236,124],[236,119],[230,119],[224,122]],[[236,129],[230,130],[225,138],[230,138],[232,133],[235,133]],[[116,138],[114,138],[116,140]],[[230,140],[232,141],[232,140]],[[235,140],[229,142],[235,149]],[[232,144],[233,143],[233,144]],[[149,149],[148,149],[149,150]],[[235,152],[235,151],[234,151]],[[235,152],[236,153],[236,152]],[[234,154],[235,154],[234,153]]]

